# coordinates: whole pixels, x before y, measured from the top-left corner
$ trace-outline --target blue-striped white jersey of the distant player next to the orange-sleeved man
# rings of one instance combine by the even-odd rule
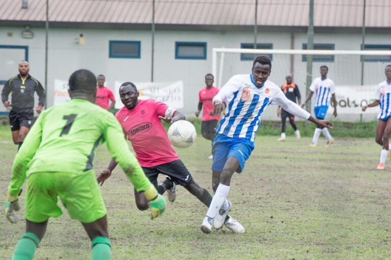
[[[322,80],[321,77],[314,79],[310,90],[316,93],[315,106],[328,106],[330,95],[336,93],[334,81],[329,78]]]

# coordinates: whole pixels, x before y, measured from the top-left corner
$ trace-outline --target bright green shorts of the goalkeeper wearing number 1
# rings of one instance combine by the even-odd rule
[[[91,223],[106,215],[102,195],[93,170],[82,174],[36,172],[27,180],[25,217],[44,222],[63,214],[57,205],[60,197],[72,219]]]

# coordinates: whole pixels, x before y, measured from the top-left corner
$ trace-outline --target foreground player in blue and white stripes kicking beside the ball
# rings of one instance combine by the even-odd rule
[[[228,111],[213,139],[212,188],[215,194],[201,225],[206,234],[211,232],[212,224],[216,229],[221,228],[231,210],[231,203],[226,199],[231,178],[235,171],[242,172],[244,162],[253,151],[260,115],[268,105],[282,106],[287,112],[322,128],[332,128],[329,121],[311,117],[309,112],[287,99],[276,84],[267,80],[270,70],[270,59],[258,56],[252,73],[233,76],[213,98],[214,114],[220,114],[225,109],[223,100]]]

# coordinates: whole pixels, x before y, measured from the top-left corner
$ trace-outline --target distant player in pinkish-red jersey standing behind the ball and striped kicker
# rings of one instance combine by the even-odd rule
[[[202,107],[202,124],[201,124],[201,133],[205,139],[213,141],[213,137],[217,129],[217,121],[220,119],[220,115],[213,115],[213,104],[212,99],[217,95],[218,89],[213,86],[214,77],[212,74],[208,73],[205,75],[205,88],[202,88],[199,95],[198,109],[195,112],[195,116],[200,115]],[[213,155],[208,157],[213,159]]]

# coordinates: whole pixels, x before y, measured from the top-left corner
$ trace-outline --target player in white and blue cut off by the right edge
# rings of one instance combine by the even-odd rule
[[[385,69],[386,80],[381,82],[375,94],[375,101],[371,104],[362,107],[365,112],[367,107],[380,105],[380,112],[377,116],[379,120],[376,127],[376,142],[383,147],[380,153],[380,162],[377,165],[378,170],[383,170],[385,160],[387,158],[389,146],[389,135],[391,134],[391,64],[388,64]],[[390,155],[391,156],[391,155]]]

